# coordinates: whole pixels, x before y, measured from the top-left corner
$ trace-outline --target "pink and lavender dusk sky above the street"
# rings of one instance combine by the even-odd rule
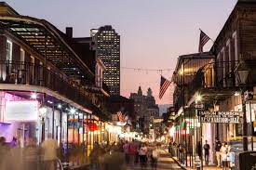
[[[20,15],[45,19],[61,31],[74,27],[74,36],[113,25],[121,35],[121,67],[169,69],[179,55],[198,49],[199,28],[213,40],[220,33],[236,0],[8,0]],[[212,43],[205,46],[209,49]],[[150,86],[158,104],[172,102],[171,88],[158,99],[161,72],[121,69],[121,94],[129,97],[139,85]]]

